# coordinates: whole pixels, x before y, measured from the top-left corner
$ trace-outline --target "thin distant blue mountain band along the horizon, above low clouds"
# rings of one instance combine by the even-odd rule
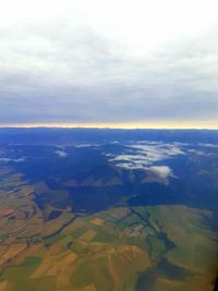
[[[117,130],[117,129],[0,129],[0,144],[105,143],[125,141],[218,143],[218,130]]]

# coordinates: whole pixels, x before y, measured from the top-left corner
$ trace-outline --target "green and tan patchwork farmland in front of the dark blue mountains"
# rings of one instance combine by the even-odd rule
[[[10,169],[0,174],[8,175],[8,184],[0,182],[0,291],[213,290],[213,211],[181,205],[83,216],[41,210],[34,186]],[[53,210],[61,214],[48,220]]]

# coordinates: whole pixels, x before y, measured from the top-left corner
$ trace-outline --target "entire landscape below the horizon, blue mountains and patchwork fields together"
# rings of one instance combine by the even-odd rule
[[[0,291],[214,290],[218,132],[0,130]]]

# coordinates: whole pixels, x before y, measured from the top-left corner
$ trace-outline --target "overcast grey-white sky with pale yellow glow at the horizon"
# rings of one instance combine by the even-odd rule
[[[218,129],[217,0],[0,0],[0,125]]]

